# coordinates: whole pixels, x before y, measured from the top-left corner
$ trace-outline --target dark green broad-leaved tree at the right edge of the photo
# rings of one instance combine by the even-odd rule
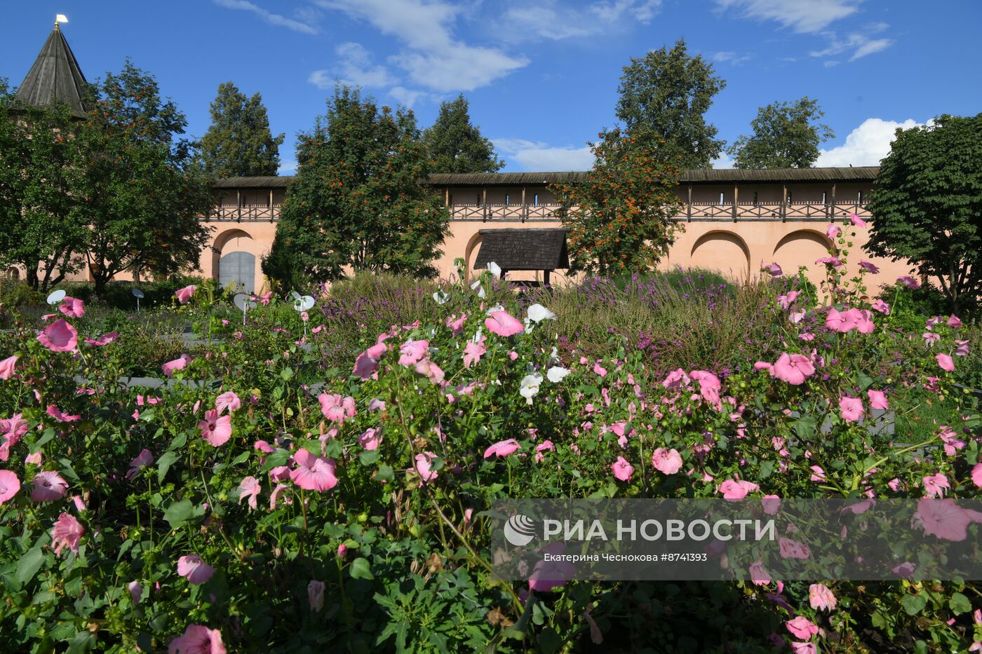
[[[870,194],[867,247],[937,280],[957,313],[982,297],[982,114],[898,130]]]

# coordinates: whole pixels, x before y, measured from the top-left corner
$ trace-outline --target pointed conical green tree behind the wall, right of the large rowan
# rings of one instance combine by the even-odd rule
[[[491,141],[470,123],[463,93],[440,104],[436,123],[423,132],[423,143],[434,173],[494,173],[505,165]]]

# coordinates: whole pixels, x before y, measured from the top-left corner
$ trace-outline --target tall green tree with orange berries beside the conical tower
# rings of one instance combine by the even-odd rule
[[[96,85],[80,132],[78,191],[91,229],[86,256],[96,292],[125,270],[158,276],[196,269],[209,230],[211,189],[180,136],[187,120],[154,78],[128,60]]]

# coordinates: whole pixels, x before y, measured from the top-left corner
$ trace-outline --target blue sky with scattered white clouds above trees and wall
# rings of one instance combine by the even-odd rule
[[[505,170],[582,170],[622,67],[679,37],[727,81],[708,119],[728,141],[763,104],[818,98],[836,132],[818,165],[876,164],[896,127],[982,111],[980,0],[32,0],[4,8],[0,77],[24,79],[58,13],[89,80],[132,57],[193,136],[220,82],[260,91],[283,173],[335,80],[422,127],[464,92]]]

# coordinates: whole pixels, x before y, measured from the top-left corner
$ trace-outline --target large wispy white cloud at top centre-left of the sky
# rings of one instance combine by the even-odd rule
[[[499,49],[474,46],[454,37],[452,27],[464,10],[446,0],[315,0],[325,9],[366,21],[395,36],[406,48],[390,61],[412,82],[439,92],[472,90],[528,64]]]

